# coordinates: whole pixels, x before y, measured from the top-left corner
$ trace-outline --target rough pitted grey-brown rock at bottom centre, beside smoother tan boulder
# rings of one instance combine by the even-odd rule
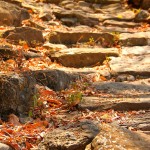
[[[60,128],[50,131],[38,148],[40,150],[84,150],[99,132],[98,126],[91,121],[81,121],[72,126],[69,129]]]

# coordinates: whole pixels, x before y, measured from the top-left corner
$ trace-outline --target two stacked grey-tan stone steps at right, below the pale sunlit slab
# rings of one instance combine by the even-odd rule
[[[150,82],[140,79],[125,82],[95,82],[93,86],[99,91],[99,97],[84,97],[80,109],[120,111],[150,109]]]

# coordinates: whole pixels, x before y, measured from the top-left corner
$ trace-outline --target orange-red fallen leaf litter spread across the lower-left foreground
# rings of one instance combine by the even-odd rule
[[[61,127],[69,128],[71,123],[81,120],[90,119],[99,123],[117,121],[121,125],[127,122],[128,118],[137,114],[135,111],[118,112],[106,110],[92,112],[88,109],[84,111],[79,111],[76,108],[72,109],[80,103],[81,95],[79,93],[79,95],[76,95],[78,99],[75,104],[68,103],[66,97],[74,94],[76,89],[80,90],[83,95],[92,94],[89,92],[92,89],[88,84],[84,86],[82,84],[81,86],[76,83],[72,85],[72,88],[61,92],[55,92],[39,85],[37,85],[37,88],[39,94],[34,98],[34,105],[24,123],[21,123],[21,118],[18,118],[15,114],[9,115],[8,122],[1,121],[0,141],[15,150],[37,148],[48,131]]]

